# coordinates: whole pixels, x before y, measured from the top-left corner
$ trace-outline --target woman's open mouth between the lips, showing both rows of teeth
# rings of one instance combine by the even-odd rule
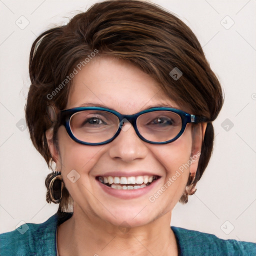
[[[160,176],[143,175],[143,176],[97,176],[96,179],[102,184],[114,189],[138,189],[150,185]]]

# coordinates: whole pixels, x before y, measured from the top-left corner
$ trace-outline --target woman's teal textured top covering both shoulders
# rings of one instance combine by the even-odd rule
[[[56,227],[71,217],[57,214],[41,224],[26,223],[0,234],[0,256],[56,256]],[[256,243],[223,240],[213,234],[171,226],[180,256],[255,256]]]

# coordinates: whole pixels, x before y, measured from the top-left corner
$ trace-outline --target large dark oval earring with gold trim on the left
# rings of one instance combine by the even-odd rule
[[[63,181],[59,171],[51,173],[49,182],[49,199],[54,203],[59,203],[62,197]]]

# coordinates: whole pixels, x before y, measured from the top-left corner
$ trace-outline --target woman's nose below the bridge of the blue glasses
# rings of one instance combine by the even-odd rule
[[[122,124],[118,136],[110,142],[109,155],[124,162],[143,159],[148,153],[145,143],[137,136],[133,126],[126,121]]]

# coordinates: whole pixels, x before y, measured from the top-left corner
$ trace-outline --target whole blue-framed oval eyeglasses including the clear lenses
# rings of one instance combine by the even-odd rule
[[[64,124],[68,135],[85,145],[109,143],[130,124],[145,142],[170,143],[181,136],[187,123],[203,121],[206,117],[170,107],[153,107],[129,115],[104,107],[75,107],[61,110],[60,114],[60,124]]]

